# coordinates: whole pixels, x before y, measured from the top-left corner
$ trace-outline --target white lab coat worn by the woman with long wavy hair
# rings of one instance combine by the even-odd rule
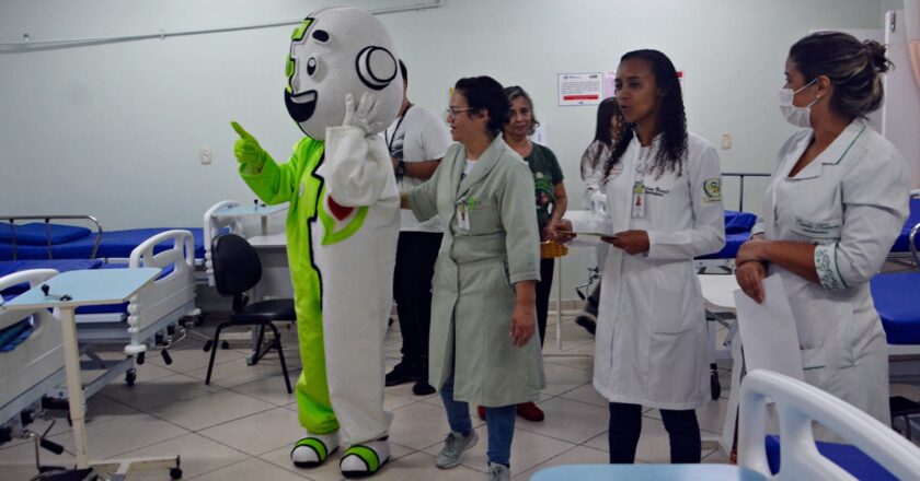
[[[651,159],[659,142],[660,136]],[[632,218],[640,151],[634,138],[622,168],[608,178],[607,211],[614,233],[647,231],[651,248],[635,256],[609,248],[594,385],[612,402],[693,409],[709,396],[706,321],[693,257],[725,244],[718,154],[691,133],[682,175],[668,171],[656,179],[654,172],[646,174],[644,216]]]

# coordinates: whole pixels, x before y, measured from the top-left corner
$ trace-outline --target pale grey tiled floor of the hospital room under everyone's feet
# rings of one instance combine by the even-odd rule
[[[552,321],[552,320],[551,320]],[[399,360],[398,325],[387,337],[387,368]],[[210,332],[210,329],[203,329]],[[285,357],[291,382],[299,374],[299,359],[291,332],[285,332]],[[563,352],[555,350],[555,331],[550,326],[544,349],[548,386],[540,407],[547,419],[540,423],[518,420],[511,454],[515,479],[527,480],[541,468],[573,462],[606,462],[607,403],[590,385],[594,338],[565,319]],[[166,365],[150,355],[138,367],[138,382],[127,387],[118,380],[88,403],[88,437],[93,459],[181,455],[183,479],[194,480],[340,480],[337,462],[313,470],[290,464],[291,444],[303,430],[297,421],[294,395],[285,391],[276,355],[248,366],[242,344],[218,352],[210,386],[205,386],[207,354],[202,342],[187,338],[171,351]],[[572,354],[582,354],[572,356]],[[728,396],[723,374],[723,399],[699,410],[703,436],[716,437]],[[916,395],[916,392],[915,392]],[[417,397],[411,385],[387,388],[386,407],[394,418],[390,433],[390,462],[377,480],[482,480],[485,479],[485,444],[469,451],[461,466],[450,470],[435,467],[447,422],[437,395]],[[474,426],[485,438],[484,423]],[[46,421],[31,427],[44,431]],[[72,448],[72,433],[58,419],[50,438]],[[720,451],[703,453],[704,462],[725,462]],[[67,465],[72,456],[42,451],[45,465]],[[646,411],[637,459],[666,462],[668,441],[656,411]],[[36,473],[31,443],[0,446],[0,480],[28,480]],[[145,472],[131,479],[168,480],[165,471]]]

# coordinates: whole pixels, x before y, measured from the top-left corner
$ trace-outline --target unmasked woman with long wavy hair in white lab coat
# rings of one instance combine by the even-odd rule
[[[594,367],[595,388],[610,401],[610,462],[635,460],[643,406],[662,411],[671,462],[699,462],[694,409],[709,396],[709,361],[693,257],[725,244],[718,155],[687,132],[677,72],[664,54],[624,55],[616,84],[630,128],[605,165],[616,234],[603,237],[612,248]]]

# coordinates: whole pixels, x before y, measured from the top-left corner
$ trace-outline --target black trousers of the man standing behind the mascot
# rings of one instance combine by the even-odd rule
[[[432,325],[432,278],[442,234],[401,232],[393,272],[393,298],[403,338],[402,362],[422,369],[428,364]],[[419,372],[427,378],[427,372]]]

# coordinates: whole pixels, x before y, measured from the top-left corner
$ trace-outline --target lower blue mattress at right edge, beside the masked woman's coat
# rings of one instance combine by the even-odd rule
[[[878,274],[869,281],[889,344],[920,344],[920,272]]]

